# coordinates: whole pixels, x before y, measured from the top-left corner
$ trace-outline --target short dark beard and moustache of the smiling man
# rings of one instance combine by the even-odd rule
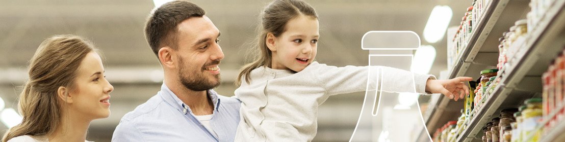
[[[182,85],[184,85],[186,88],[193,91],[204,91],[210,90],[220,85],[220,74],[214,75],[216,80],[208,80],[208,78],[204,76],[203,72],[189,72],[185,70],[184,61],[182,61],[182,59],[180,59],[179,61],[179,78]],[[205,66],[218,65],[219,63],[220,61],[218,60],[207,63],[207,65]],[[202,67],[200,68],[200,70],[203,70]]]

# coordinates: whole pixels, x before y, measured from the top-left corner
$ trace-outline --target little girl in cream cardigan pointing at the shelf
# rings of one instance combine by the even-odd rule
[[[431,75],[391,67],[314,62],[318,15],[306,2],[275,0],[261,16],[260,55],[242,68],[240,87],[234,92],[242,102],[236,141],[311,141],[316,135],[318,106],[331,95],[365,91],[368,71],[376,68],[393,76],[383,79],[383,84],[393,86],[384,91],[443,93],[455,100],[468,93],[461,81],[471,77],[434,80]]]

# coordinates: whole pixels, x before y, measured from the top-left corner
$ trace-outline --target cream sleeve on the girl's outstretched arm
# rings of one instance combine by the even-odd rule
[[[387,92],[407,92],[428,94],[425,84],[433,75],[420,75],[410,71],[385,66],[327,66],[318,64],[314,76],[317,76],[328,95],[375,90]],[[381,74],[382,73],[382,74]]]

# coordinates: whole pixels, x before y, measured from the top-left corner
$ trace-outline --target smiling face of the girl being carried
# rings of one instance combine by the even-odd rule
[[[267,34],[267,47],[272,53],[271,68],[299,72],[310,65],[318,49],[318,19],[300,15],[288,21],[285,31],[275,37]]]

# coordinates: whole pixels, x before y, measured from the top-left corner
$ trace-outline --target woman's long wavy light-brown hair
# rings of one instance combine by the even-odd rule
[[[60,125],[62,100],[57,97],[60,86],[73,89],[82,59],[97,52],[88,40],[76,35],[55,35],[44,40],[29,62],[29,80],[19,96],[20,124],[2,137],[6,142],[16,136],[46,136]]]

